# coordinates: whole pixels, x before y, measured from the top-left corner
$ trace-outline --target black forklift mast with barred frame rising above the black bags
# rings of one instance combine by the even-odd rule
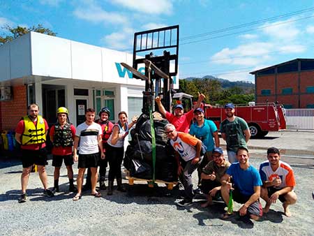
[[[169,50],[169,51],[167,51]],[[133,68],[144,64],[145,91],[142,112],[155,110],[155,97],[160,96],[165,110],[171,112],[173,90],[172,76],[178,73],[179,25],[151,29],[134,34]],[[171,66],[170,66],[171,65]],[[174,70],[172,70],[174,68]],[[133,73],[133,77],[142,79]]]

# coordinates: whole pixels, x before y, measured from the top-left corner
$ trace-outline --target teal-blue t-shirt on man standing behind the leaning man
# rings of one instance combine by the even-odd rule
[[[190,135],[195,135],[196,138],[202,140],[208,152],[214,149],[213,133],[216,131],[216,124],[209,119],[205,119],[204,124],[200,127],[197,126],[197,122],[190,126]]]

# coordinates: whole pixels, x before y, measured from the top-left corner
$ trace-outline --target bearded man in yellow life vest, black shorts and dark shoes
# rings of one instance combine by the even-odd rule
[[[44,195],[47,197],[53,197],[54,193],[48,189],[47,173],[45,165],[47,162],[47,150],[46,150],[46,135],[48,130],[48,124],[43,117],[38,115],[39,107],[33,103],[27,108],[28,114],[17,124],[15,130],[15,140],[20,143],[22,149],[22,194],[19,198],[19,202],[26,202],[27,200],[27,184],[29,182],[29,175],[33,164],[37,165],[38,175],[40,181],[44,187]]]

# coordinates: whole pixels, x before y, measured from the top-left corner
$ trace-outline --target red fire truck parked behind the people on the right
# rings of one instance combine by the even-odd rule
[[[190,109],[192,96],[189,94],[174,94],[174,101],[180,100],[186,108]],[[219,129],[220,122],[225,116],[224,106],[204,105],[206,119],[211,119]],[[260,138],[269,131],[280,131],[286,128],[285,110],[283,105],[275,103],[250,103],[250,105],[235,105],[235,115],[246,120],[252,138]]]

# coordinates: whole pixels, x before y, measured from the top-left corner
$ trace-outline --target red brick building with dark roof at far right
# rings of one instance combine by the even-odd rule
[[[256,103],[314,108],[314,59],[294,59],[251,74],[255,75]]]

